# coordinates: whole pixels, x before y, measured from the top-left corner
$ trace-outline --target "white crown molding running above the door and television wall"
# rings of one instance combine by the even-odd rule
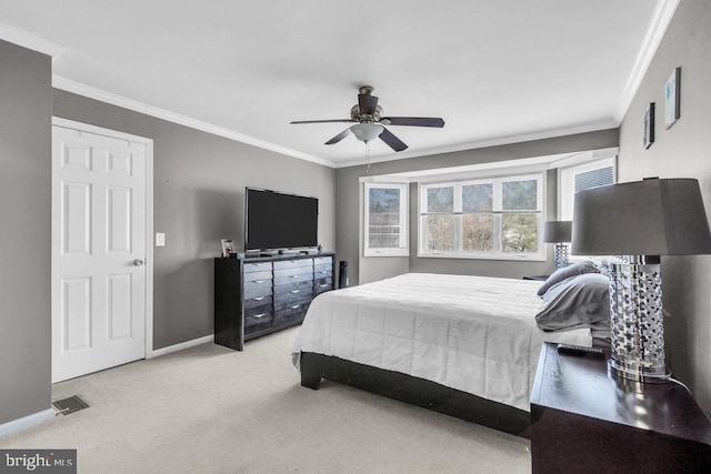
[[[291,150],[286,147],[280,147],[273,143],[266,142],[252,137],[243,135],[232,130],[217,127],[200,120],[191,119],[179,113],[174,113],[164,109],[159,109],[153,105],[149,105],[143,102],[127,99],[121,95],[117,95],[111,92],[102,91],[100,89],[92,88],[90,85],[82,84],[80,82],[72,81],[70,79],[61,78],[59,75],[52,75],[52,87],[61,89],[67,92],[72,92],[79,95],[94,99],[101,102],[110,103],[112,105],[121,107],[123,109],[132,110],[143,113],[146,115],[156,117],[157,119],[167,120],[169,122],[178,123],[180,125],[190,127],[191,129],[200,130],[213,135],[222,137],[229,140],[233,140],[240,143],[250,144],[264,150],[273,151],[276,153],[284,154],[288,157],[298,158],[300,160],[311,161],[324,167],[334,168],[333,162],[324,160],[322,158],[313,157],[311,154],[302,153],[296,150]]]

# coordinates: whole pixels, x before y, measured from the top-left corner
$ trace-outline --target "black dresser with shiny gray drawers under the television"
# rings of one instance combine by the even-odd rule
[[[311,301],[334,289],[333,276],[332,253],[214,259],[214,342],[241,351],[300,324]]]

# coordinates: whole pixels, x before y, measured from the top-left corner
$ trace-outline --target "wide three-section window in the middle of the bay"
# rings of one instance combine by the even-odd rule
[[[421,184],[420,256],[543,260],[543,174]]]

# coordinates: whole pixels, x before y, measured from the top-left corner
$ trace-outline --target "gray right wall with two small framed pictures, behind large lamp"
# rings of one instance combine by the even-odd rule
[[[620,130],[620,181],[697,178],[711,218],[711,2],[682,1]],[[681,118],[664,130],[664,82],[681,67]],[[642,113],[657,104],[657,139],[642,149]],[[711,414],[711,255],[662,259],[671,369]]]

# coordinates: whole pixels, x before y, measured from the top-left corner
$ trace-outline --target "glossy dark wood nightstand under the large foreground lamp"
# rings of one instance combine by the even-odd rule
[[[544,343],[531,393],[534,473],[711,470],[711,423],[674,382],[608,375],[609,354]]]

